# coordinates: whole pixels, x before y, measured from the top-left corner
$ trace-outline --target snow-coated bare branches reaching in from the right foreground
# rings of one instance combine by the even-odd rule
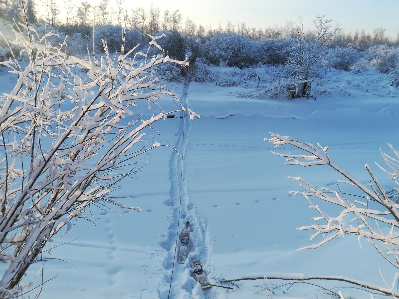
[[[314,224],[302,226],[299,230],[313,230],[310,240],[317,240],[315,244],[305,246],[303,249],[316,249],[334,238],[345,235],[358,236],[359,245],[361,240],[366,239],[368,244],[375,248],[379,255],[389,262],[392,266],[399,269],[399,212],[398,204],[393,200],[393,192],[386,192],[376,175],[368,164],[365,164],[367,174],[369,176],[369,187],[363,185],[358,179],[353,177],[345,169],[334,163],[328,155],[328,147],[322,147],[319,144],[314,146],[309,143],[301,142],[289,136],[280,136],[270,133],[271,138],[265,138],[275,145],[292,146],[299,150],[299,153],[280,153],[271,151],[273,154],[286,157],[288,165],[315,166],[327,165],[336,172],[340,173],[345,180],[338,182],[349,186],[351,191],[342,192],[341,188],[332,190],[330,188],[317,188],[302,177],[288,177],[301,183],[304,191],[291,191],[294,195],[304,196],[310,203],[310,208],[314,209],[318,216],[313,220]],[[381,151],[382,157],[387,164],[389,170],[383,169],[387,174],[392,176],[393,181],[398,178],[399,153],[390,144],[389,148],[393,151],[394,157],[387,155]],[[354,191],[352,191],[352,189]],[[395,189],[393,189],[396,191]],[[397,191],[396,191],[397,192]],[[321,200],[332,203],[340,207],[340,212],[331,215],[330,212],[323,210],[319,205],[313,203],[314,200]],[[263,277],[255,277],[254,279],[262,279]],[[268,277],[270,278],[270,277]],[[276,277],[277,278],[277,277]],[[285,277],[286,278],[286,277]],[[301,280],[301,277],[296,277]],[[246,279],[250,279],[246,277]],[[306,279],[310,279],[306,277]],[[392,289],[369,285],[367,283],[348,279],[346,277],[312,277],[311,279],[324,280],[341,280],[349,283],[357,284],[367,289],[380,291],[386,295],[397,297]],[[237,280],[235,280],[237,281]]]

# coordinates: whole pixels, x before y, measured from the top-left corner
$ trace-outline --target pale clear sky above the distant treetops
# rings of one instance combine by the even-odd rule
[[[62,6],[62,0],[57,0]],[[81,1],[74,0],[79,4]],[[95,5],[97,1],[88,0]],[[110,4],[114,0],[110,1]],[[385,28],[386,35],[396,38],[399,32],[399,0],[152,0],[132,1],[125,0],[128,14],[132,8],[142,6],[146,10],[150,4],[163,11],[169,8],[176,9],[183,14],[183,22],[186,18],[193,20],[196,25],[217,28],[219,21],[225,28],[229,20],[234,25],[245,22],[248,27],[265,29],[268,26],[284,26],[292,20],[296,22],[301,16],[305,27],[312,26],[312,20],[319,14],[333,19],[340,24],[340,28],[346,33],[364,29],[369,33],[375,28]]]

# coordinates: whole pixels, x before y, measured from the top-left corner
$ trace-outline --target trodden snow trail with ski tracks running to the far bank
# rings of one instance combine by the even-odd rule
[[[188,75],[184,83],[184,92],[181,95],[181,102],[184,103],[186,108],[190,108],[188,101],[189,85],[190,78]],[[176,114],[176,116],[179,115]],[[169,160],[170,198],[164,204],[171,208],[167,215],[170,226],[166,236],[168,239],[162,243],[167,254],[162,263],[165,274],[158,287],[160,299],[213,298],[215,295],[214,288],[201,289],[198,281],[194,279],[191,269],[193,261],[198,260],[208,277],[213,272],[212,246],[207,232],[207,223],[205,219],[199,216],[194,203],[191,202],[186,184],[186,146],[190,137],[191,122],[186,113],[180,114],[177,125],[177,140],[174,146],[178,153],[172,153]],[[178,264],[180,233],[186,221],[190,221],[191,226],[188,257],[185,264]]]

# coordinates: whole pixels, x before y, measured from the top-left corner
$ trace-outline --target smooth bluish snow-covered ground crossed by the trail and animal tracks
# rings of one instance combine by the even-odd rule
[[[380,148],[386,149],[386,142],[399,147],[399,91],[387,87],[374,71],[328,76],[331,82],[322,88],[333,92],[317,100],[240,98],[235,94],[249,92],[251,86],[173,83],[182,100],[201,115],[194,121],[175,117],[158,122],[161,134],[154,132],[154,137],[180,155],[158,147],[141,160],[140,165],[149,163],[137,179],[122,183],[118,195],[136,195],[126,201],[142,212],[117,210],[119,216],[93,209],[93,216],[87,216],[94,223],[81,219],[70,234],[51,244],[70,241],[49,256],[70,263],[47,262],[44,279],[55,278],[45,283],[41,298],[268,298],[268,283],[287,283],[243,281],[233,290],[203,291],[192,276],[194,260],[213,284],[214,278],[273,272],[339,275],[385,286],[379,269],[390,284],[395,269],[367,242],[360,248],[356,237],[296,251],[314,242],[296,228],[311,224],[316,215],[306,199],[289,195],[301,187],[287,176],[302,176],[319,187],[334,187],[342,177],[326,167],[286,166],[269,152],[272,144],[263,141],[274,132],[328,145],[332,159],[367,183],[363,162],[381,162]],[[7,80],[2,76],[0,83]],[[381,176],[384,185],[392,186],[389,179]],[[186,264],[173,263],[177,227],[181,230],[187,220],[190,254]],[[312,285],[288,287],[275,288],[273,297],[331,298]],[[369,298],[357,289],[341,291],[351,298]]]

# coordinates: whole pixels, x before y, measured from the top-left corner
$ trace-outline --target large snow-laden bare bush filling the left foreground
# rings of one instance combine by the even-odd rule
[[[7,264],[0,297],[29,291],[22,278],[34,262],[51,250],[47,242],[61,229],[71,229],[92,204],[128,207],[113,198],[121,179],[134,173],[138,156],[161,146],[146,143],[145,130],[168,113],[158,99],[169,96],[190,118],[172,92],[152,76],[164,62],[187,65],[163,55],[136,63],[122,49],[110,57],[67,57],[65,43],[53,45],[47,34],[30,39],[14,32],[30,63],[2,62],[15,73],[16,85],[0,97],[0,261]],[[158,47],[154,37],[150,45]],[[133,50],[132,50],[133,51]],[[115,57],[115,63],[114,63]],[[74,68],[77,72],[74,72]],[[80,73],[87,69],[87,73]],[[81,75],[78,75],[81,74]],[[144,101],[158,114],[136,114]],[[155,112],[155,111],[154,111]],[[197,116],[199,117],[199,116]],[[64,233],[64,234],[65,234]]]

